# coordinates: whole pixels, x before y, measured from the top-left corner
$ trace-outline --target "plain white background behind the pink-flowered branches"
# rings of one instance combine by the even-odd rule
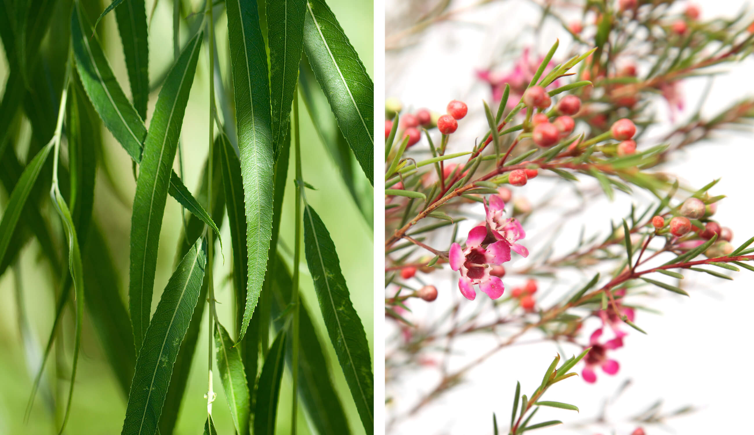
[[[469,2],[452,2],[450,9],[467,3]],[[719,15],[733,17],[740,13],[745,3],[740,0],[698,2],[702,19]],[[684,7],[685,3],[675,5],[678,11],[682,11]],[[388,1],[388,23],[391,17],[401,13],[409,13],[406,2]],[[501,51],[507,44],[512,47],[536,44],[538,54],[544,54],[554,38],[560,38],[561,42],[556,60],[562,60],[569,51],[569,36],[553,23],[547,26],[549,31],[538,35],[538,41],[529,36],[517,36],[520,29],[532,26],[537,19],[537,8],[532,7],[531,3],[494,2],[492,5],[476,8],[474,12],[461,14],[452,23],[435,26],[425,33],[418,44],[400,53],[388,52],[385,61],[385,95],[400,97],[404,106],[412,109],[426,106],[438,112],[443,111],[446,103],[454,98],[466,101],[470,106],[470,115],[460,122],[449,152],[468,149],[468,144],[473,143],[476,135],[486,128],[481,100],[489,101],[491,98],[489,88],[474,78],[474,72],[489,65],[493,59],[492,53]],[[388,24],[388,35],[392,30],[389,27]],[[754,94],[752,72],[754,62],[749,58],[732,68],[728,75],[716,79],[703,113],[717,113],[734,100]],[[683,121],[688,117],[696,106],[705,83],[703,80],[684,81],[686,111],[676,121]],[[667,127],[670,122],[666,105],[658,101],[657,107],[658,114],[665,120]],[[675,161],[663,167],[663,170],[679,174],[683,181],[696,187],[722,177],[712,193],[728,195],[728,198],[719,204],[716,219],[721,225],[734,229],[734,246],[754,235],[754,205],[750,187],[754,161],[752,138],[754,136],[750,133],[719,133],[712,141],[702,142],[685,152],[676,153]],[[656,143],[653,142],[653,136],[645,136],[639,142],[639,149]],[[589,180],[583,181],[584,185],[588,182]],[[524,188],[516,190],[516,195],[526,195],[533,203],[537,202],[536,198],[550,193],[547,181],[544,180],[530,182]],[[645,202],[646,198],[646,195],[639,194],[633,201],[636,204],[648,204]],[[600,201],[593,204],[579,217],[579,221],[570,222],[560,231],[560,252],[572,247],[582,222],[587,225],[587,234],[600,231],[604,234],[609,219],[619,221],[628,212],[631,201],[630,197],[619,193],[613,203]],[[544,234],[549,235],[549,231],[559,223],[557,213],[576,205],[564,196],[559,204],[555,204],[552,213],[543,213],[550,216],[544,216],[526,226],[526,246],[532,253],[544,244],[547,238]],[[460,234],[467,230],[464,227]],[[524,264],[520,257],[516,257],[507,266],[514,269]],[[664,293],[661,299],[642,301],[662,311],[662,314],[640,312],[637,315],[636,323],[648,335],[630,330],[625,347],[614,354],[621,363],[618,375],[608,376],[598,371],[596,384],[572,378],[548,392],[545,400],[573,403],[581,412],[577,414],[560,409],[541,409],[535,421],[559,419],[566,422],[566,426],[547,429],[546,433],[607,435],[615,430],[619,435],[628,434],[636,424],[627,422],[627,419],[660,399],[664,400],[665,411],[685,405],[697,406],[699,409],[667,421],[667,427],[647,425],[646,433],[752,432],[749,412],[754,405],[754,398],[749,394],[752,388],[749,375],[752,357],[749,316],[754,305],[754,274],[742,271],[735,275],[734,281],[708,278],[693,272],[686,275],[685,288],[691,293],[691,298]],[[440,289],[436,302],[412,303],[414,313],[411,319],[421,324],[423,319],[432,319],[444,308],[458,302],[461,295],[452,274],[420,274],[420,277]],[[572,288],[585,280],[588,277],[578,277],[566,288]],[[510,290],[523,280],[506,277],[504,282]],[[543,281],[541,288],[545,286],[547,284]],[[547,300],[538,302],[547,306]],[[474,310],[480,304],[489,304],[489,298],[480,293],[474,302],[464,303],[467,310]],[[591,332],[595,325],[596,323],[585,325],[586,333]],[[386,326],[388,340],[391,340],[395,333],[394,323],[386,322]],[[606,335],[610,336],[607,332]],[[535,338],[536,335],[532,337]],[[583,341],[586,340],[584,337]],[[456,368],[492,348],[495,339],[486,336],[465,339],[459,343],[462,343],[456,349],[459,356],[452,362],[452,367]],[[571,346],[566,351],[570,354],[578,349]],[[522,383],[522,393],[530,394],[541,381],[544,370],[555,354],[556,348],[549,343],[515,346],[498,352],[495,357],[470,372],[464,378],[464,384],[435,400],[414,418],[397,424],[391,433],[492,433],[492,412],[498,415],[501,431],[507,432],[516,380]],[[581,372],[581,367],[581,364],[577,366],[578,372]],[[399,383],[388,385],[386,389],[386,396],[393,400],[386,411],[388,418],[405,412],[415,404],[418,397],[434,388],[439,380],[435,369],[421,369],[404,374]],[[627,380],[631,382],[630,387],[608,407],[606,418],[611,424],[574,427],[574,423],[595,418],[603,401],[612,397]]]

